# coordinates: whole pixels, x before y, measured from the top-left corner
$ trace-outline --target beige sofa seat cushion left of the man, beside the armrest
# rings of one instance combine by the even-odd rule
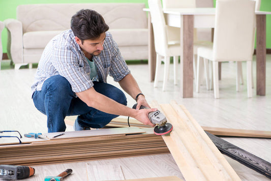
[[[24,48],[45,48],[47,43],[63,31],[39,31],[23,34]]]

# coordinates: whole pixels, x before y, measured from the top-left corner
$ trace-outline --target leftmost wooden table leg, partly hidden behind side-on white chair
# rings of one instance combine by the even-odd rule
[[[150,13],[148,13],[148,70],[150,82],[155,80],[155,68],[156,68],[156,51],[154,44],[154,31]]]

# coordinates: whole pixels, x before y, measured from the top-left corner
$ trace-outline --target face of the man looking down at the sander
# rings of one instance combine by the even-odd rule
[[[82,51],[84,54],[87,56],[87,53],[97,56],[101,53],[101,51],[104,49],[103,44],[105,40],[105,33],[102,33],[99,38],[95,40],[84,40],[83,43],[82,41],[78,38],[75,37],[76,42],[78,45],[81,47]]]

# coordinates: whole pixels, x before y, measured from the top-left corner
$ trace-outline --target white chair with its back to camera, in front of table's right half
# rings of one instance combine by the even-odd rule
[[[214,44],[198,48],[197,83],[199,92],[200,57],[213,62],[213,81],[215,98],[219,98],[218,63],[247,62],[248,97],[252,97],[252,56],[254,47],[255,1],[218,0],[216,4],[216,20]],[[205,70],[207,65],[204,64]],[[238,75],[236,77],[236,82]],[[236,85],[237,87],[238,85]]]

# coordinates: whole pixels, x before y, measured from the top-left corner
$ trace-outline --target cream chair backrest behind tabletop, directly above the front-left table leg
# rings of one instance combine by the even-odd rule
[[[163,8],[196,8],[196,0],[162,0]]]

